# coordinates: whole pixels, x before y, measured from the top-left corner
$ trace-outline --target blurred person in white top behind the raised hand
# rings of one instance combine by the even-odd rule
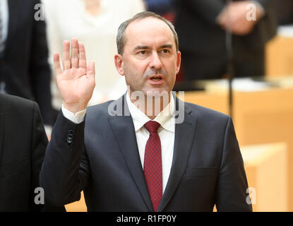
[[[126,91],[123,76],[116,71],[116,31],[120,23],[138,12],[145,11],[143,0],[42,0],[53,67],[53,53],[62,52],[64,40],[76,37],[88,49],[89,61],[95,61],[96,86],[89,105],[116,99]],[[54,73],[52,73],[54,74]],[[61,108],[62,99],[52,81],[53,105]]]

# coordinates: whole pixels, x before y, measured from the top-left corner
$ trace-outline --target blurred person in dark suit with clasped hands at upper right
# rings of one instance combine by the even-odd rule
[[[275,35],[277,28],[273,1],[232,0],[227,7],[226,2],[177,1],[174,24],[184,56],[182,73],[185,81],[227,75],[226,30],[229,24],[234,57],[233,76],[265,75],[265,43]]]

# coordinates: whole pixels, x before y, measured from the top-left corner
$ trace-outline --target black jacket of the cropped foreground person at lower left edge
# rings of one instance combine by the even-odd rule
[[[34,191],[47,143],[37,104],[0,93],[0,212],[44,210]]]

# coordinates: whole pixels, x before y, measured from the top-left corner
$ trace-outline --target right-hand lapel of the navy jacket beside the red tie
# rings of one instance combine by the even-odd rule
[[[176,102],[181,102],[176,98]],[[181,102],[182,104],[183,102]],[[162,211],[179,185],[186,170],[191,145],[196,133],[196,118],[190,115],[191,110],[184,105],[184,121],[175,125],[174,155],[171,172],[158,211]]]

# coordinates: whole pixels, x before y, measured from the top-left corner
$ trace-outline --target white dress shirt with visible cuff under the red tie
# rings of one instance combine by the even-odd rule
[[[133,119],[134,130],[136,131],[136,141],[138,144],[138,152],[140,156],[140,162],[143,167],[144,157],[145,157],[145,144],[148,141],[150,133],[143,126],[146,122],[151,119],[147,117],[143,112],[136,107],[136,105],[131,102],[129,94],[126,95],[126,102],[128,105],[129,112]],[[84,120],[85,112],[80,111],[76,114],[69,112],[63,105],[61,107],[64,117],[78,124]],[[160,128],[158,129],[158,134],[161,140],[161,150],[162,150],[162,191],[164,193],[169,174],[171,171],[173,153],[174,153],[174,139],[175,139],[175,103],[174,97],[172,96],[169,104],[160,112],[153,121],[160,123]]]

